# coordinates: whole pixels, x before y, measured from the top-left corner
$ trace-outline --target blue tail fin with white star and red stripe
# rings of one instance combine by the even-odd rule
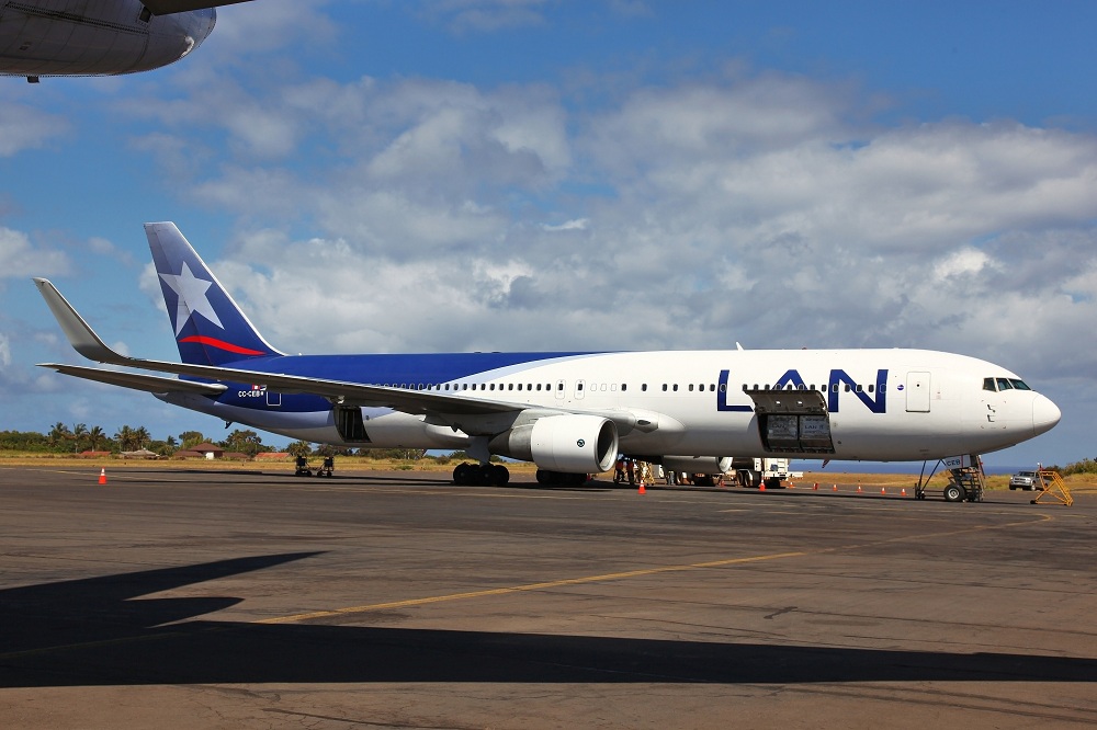
[[[263,340],[176,224],[145,224],[145,236],[184,363],[226,365],[283,354]]]

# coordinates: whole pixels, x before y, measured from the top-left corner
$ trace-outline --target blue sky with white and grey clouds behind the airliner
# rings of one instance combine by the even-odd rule
[[[220,437],[34,367],[77,356],[33,275],[177,356],[140,228],[174,220],[286,351],[948,350],[1063,410],[988,464],[1093,457],[1095,21],[255,0],[166,69],[0,79],[0,429]]]

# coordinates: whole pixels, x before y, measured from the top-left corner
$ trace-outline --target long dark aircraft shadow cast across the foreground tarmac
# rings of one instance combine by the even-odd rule
[[[318,554],[236,558],[0,591],[0,687],[327,682],[1092,682],[1097,676],[1094,659],[998,652],[184,620],[242,598],[139,598],[313,555]],[[369,615],[364,618],[369,620]],[[163,625],[169,621],[182,623]]]

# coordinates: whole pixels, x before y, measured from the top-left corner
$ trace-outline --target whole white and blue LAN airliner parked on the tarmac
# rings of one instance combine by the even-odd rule
[[[286,355],[240,311],[179,229],[146,224],[182,363],[109,349],[46,280],[72,346],[179,378],[44,364],[309,442],[464,449],[457,483],[509,479],[491,455],[579,483],[618,454],[712,474],[728,456],[923,461],[1007,448],[1059,408],[1016,374],[927,350]]]

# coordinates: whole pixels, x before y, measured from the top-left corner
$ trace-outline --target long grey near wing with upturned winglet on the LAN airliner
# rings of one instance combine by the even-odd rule
[[[88,322],[84,321],[83,317],[80,316],[80,313],[68,303],[61,293],[57,290],[57,287],[55,287],[48,280],[35,278],[34,283],[38,286],[38,290],[46,300],[46,304],[49,306],[50,311],[57,319],[57,323],[60,326],[61,331],[65,332],[65,337],[68,338],[72,347],[88,360],[99,363],[152,370],[156,373],[186,375],[208,380],[227,380],[229,383],[263,385],[271,390],[276,390],[283,393],[307,393],[320,396],[337,403],[385,407],[417,415],[433,414],[442,418],[452,415],[489,415],[498,413],[519,413],[530,408],[528,403],[484,400],[473,396],[456,396],[430,390],[386,388],[384,386],[303,377],[299,375],[289,375],[284,373],[270,373],[235,367],[218,367],[213,365],[191,365],[185,363],[169,363],[165,361],[128,357],[109,347],[106,343],[104,343],[102,339],[95,334],[94,330],[91,329]],[[53,364],[46,364],[43,365],[43,367],[50,367],[58,369],[58,372],[65,372],[60,370],[60,367],[73,370],[75,368],[78,368],[78,366],[72,365],[57,366]],[[95,370],[95,368],[79,368],[79,370],[80,374],[78,377],[90,377],[88,375],[89,372],[112,374],[105,377],[117,377],[118,375],[113,374],[111,370]],[[76,372],[66,374],[77,375]],[[148,378],[150,376],[135,377]],[[99,375],[98,377],[91,379],[108,381],[103,378],[104,376]],[[157,378],[157,380],[167,380],[169,383],[176,381],[171,378]],[[131,383],[137,383],[137,380],[133,380]],[[152,385],[152,380],[145,380],[144,383]],[[114,384],[125,385],[120,380],[114,380]],[[222,387],[224,388],[224,386]],[[545,411],[546,413],[583,412],[592,415],[602,415],[617,423],[622,430],[631,430],[635,426],[640,426],[641,429],[654,427],[654,423],[649,420],[637,418],[634,413],[624,410],[576,411],[573,409],[552,409],[541,407],[536,410]]]

